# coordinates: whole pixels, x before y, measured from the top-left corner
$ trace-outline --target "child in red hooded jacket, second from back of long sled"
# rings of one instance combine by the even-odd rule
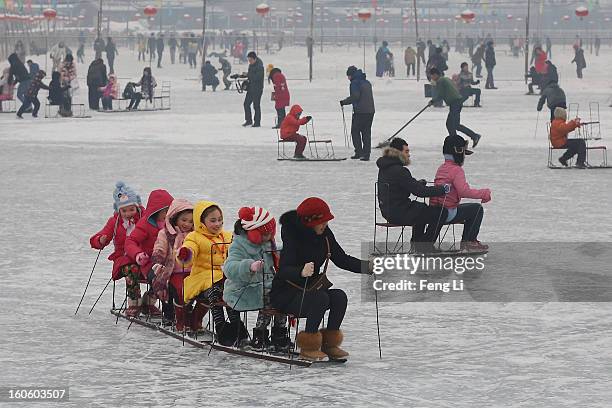
[[[147,208],[140,220],[136,223],[134,231],[127,237],[125,241],[125,252],[130,257],[132,263],[124,266],[121,270],[126,276],[126,284],[128,284],[128,298],[138,300],[140,298],[140,279],[146,279],[151,283],[155,277],[155,273],[151,269],[151,255],[153,254],[153,246],[157,240],[159,231],[164,228],[166,214],[170,204],[174,198],[166,190],[154,190],[149,194]],[[145,312],[150,315],[160,314],[159,310],[154,306],[156,297],[150,291],[142,299],[142,306]],[[172,308],[164,307],[164,316],[167,319],[174,320]],[[128,316],[138,316],[140,307],[138,305],[128,308],[126,314]]]

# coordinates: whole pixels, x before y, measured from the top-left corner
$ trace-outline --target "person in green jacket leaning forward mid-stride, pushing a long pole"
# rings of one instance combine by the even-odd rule
[[[433,106],[444,101],[448,105],[448,117],[446,118],[446,129],[450,136],[456,136],[457,131],[472,139],[472,146],[476,147],[481,136],[472,129],[461,124],[461,108],[463,108],[463,97],[455,88],[452,80],[442,76],[437,68],[429,70],[432,85],[436,87],[437,96],[429,101],[428,106]]]

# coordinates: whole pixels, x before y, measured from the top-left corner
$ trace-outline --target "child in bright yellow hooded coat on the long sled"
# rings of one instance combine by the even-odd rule
[[[201,319],[210,306],[219,342],[235,345],[248,338],[246,328],[240,314],[227,307],[229,323],[226,323],[223,307],[219,305],[223,300],[221,265],[227,258],[232,233],[223,229],[223,212],[212,201],[196,203],[193,224],[193,232],[185,237],[177,254],[179,262],[191,267],[191,274],[184,281],[185,303],[195,299],[194,320],[200,315]]]

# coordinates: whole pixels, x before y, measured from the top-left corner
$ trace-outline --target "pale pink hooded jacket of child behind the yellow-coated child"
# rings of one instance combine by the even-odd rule
[[[157,233],[157,239],[153,245],[151,263],[162,266],[158,273],[167,278],[166,282],[170,275],[183,273],[183,265],[176,260],[176,255],[189,232],[181,232],[178,227],[172,225],[172,221],[180,212],[186,210],[193,210],[193,204],[181,198],[172,201],[166,214],[165,227]],[[185,268],[184,271],[185,274],[188,274],[190,269]]]

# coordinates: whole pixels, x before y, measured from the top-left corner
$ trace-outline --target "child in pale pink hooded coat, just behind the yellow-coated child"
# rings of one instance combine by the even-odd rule
[[[175,199],[168,208],[164,228],[157,234],[153,246],[153,291],[168,307],[174,308],[176,331],[182,332],[185,328],[197,331],[202,328],[194,327],[187,318],[190,314],[183,302],[183,280],[189,275],[189,268],[183,268],[176,261],[178,250],[183,245],[187,234],[193,231],[193,204],[180,198]]]

